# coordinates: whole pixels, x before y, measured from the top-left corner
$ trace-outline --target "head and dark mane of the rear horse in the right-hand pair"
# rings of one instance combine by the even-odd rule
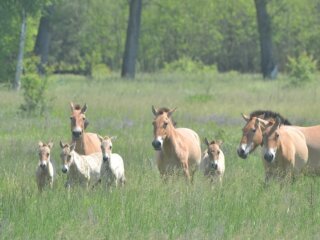
[[[250,113],[250,116],[242,114],[242,117],[246,121],[246,125],[242,129],[242,138],[237,153],[238,156],[243,159],[247,158],[257,146],[262,144],[262,131],[264,130],[260,124],[262,120],[275,120],[279,118],[282,124],[291,125],[291,123],[279,113],[272,111],[257,110]]]

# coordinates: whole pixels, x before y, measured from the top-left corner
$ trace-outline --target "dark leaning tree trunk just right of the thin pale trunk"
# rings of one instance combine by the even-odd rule
[[[38,34],[34,46],[34,54],[40,57],[40,65],[38,71],[40,74],[45,73],[44,65],[48,62],[49,46],[51,39],[50,16],[53,12],[53,6],[50,5],[45,9],[45,13],[40,18]]]

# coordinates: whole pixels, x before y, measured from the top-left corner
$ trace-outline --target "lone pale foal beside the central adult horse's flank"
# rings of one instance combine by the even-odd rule
[[[225,171],[225,159],[221,150],[222,142],[215,140],[209,142],[207,138],[204,139],[204,142],[207,145],[207,149],[203,154],[200,169],[211,181],[218,179],[222,182]]]

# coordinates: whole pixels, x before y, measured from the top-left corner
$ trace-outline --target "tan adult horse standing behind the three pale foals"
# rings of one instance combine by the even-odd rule
[[[84,131],[88,125],[88,121],[85,116],[87,104],[81,108],[80,105],[74,105],[71,102],[70,106],[72,141],[76,143],[76,152],[81,155],[101,152],[98,135]]]

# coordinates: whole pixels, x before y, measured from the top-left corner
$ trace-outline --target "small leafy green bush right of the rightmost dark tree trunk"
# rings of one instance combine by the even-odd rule
[[[317,61],[311,55],[303,52],[297,58],[289,56],[287,68],[291,83],[301,85],[313,79],[317,70]]]

